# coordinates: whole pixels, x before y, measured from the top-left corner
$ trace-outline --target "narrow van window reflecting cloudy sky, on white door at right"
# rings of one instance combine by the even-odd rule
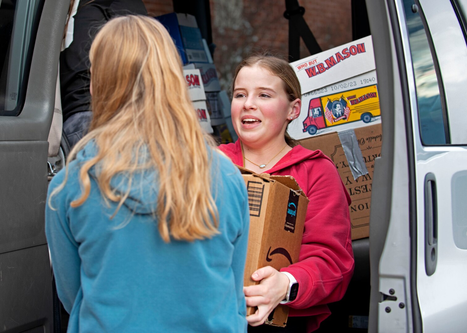
[[[448,127],[447,123],[445,127],[444,111],[439,96],[439,87],[442,85],[435,71],[436,56],[432,55],[427,38],[427,33],[430,32],[425,31],[420,11],[412,7],[415,5],[414,1],[403,2],[415,76],[421,140],[424,145],[444,145],[449,143],[445,132],[445,128]]]

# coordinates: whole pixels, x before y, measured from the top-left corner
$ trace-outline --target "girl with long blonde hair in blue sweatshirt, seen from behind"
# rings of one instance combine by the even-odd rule
[[[46,208],[68,332],[246,332],[245,185],[202,132],[172,39],[115,18],[90,61],[90,132]]]

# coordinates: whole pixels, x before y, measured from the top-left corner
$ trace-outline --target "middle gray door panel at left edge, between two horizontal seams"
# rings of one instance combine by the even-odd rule
[[[47,243],[47,141],[0,142],[0,253]]]

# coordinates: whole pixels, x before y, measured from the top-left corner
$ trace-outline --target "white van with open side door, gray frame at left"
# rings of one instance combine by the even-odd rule
[[[0,1],[6,332],[60,332],[44,207],[68,7],[69,0]],[[467,332],[467,0],[367,0],[366,9],[383,135],[370,236],[354,241],[353,281],[320,331]]]

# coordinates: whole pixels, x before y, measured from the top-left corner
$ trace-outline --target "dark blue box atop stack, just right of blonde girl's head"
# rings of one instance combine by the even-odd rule
[[[196,18],[190,14],[170,13],[157,16],[169,31],[183,63],[209,62]]]

